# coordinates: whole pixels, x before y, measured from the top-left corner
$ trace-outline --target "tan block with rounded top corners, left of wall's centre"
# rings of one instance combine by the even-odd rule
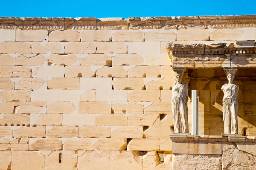
[[[72,102],[54,102],[47,106],[47,113],[73,113],[75,109]]]

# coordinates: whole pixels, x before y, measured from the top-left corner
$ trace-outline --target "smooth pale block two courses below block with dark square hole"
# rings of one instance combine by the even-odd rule
[[[100,77],[100,78],[80,78],[80,89],[112,89],[112,78],[111,77]]]

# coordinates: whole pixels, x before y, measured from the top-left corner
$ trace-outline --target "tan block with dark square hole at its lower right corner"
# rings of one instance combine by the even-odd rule
[[[88,30],[89,31],[89,30]],[[94,30],[92,30],[94,31]],[[106,54],[88,54],[84,59],[80,59],[80,65],[108,65],[112,64],[112,57]]]

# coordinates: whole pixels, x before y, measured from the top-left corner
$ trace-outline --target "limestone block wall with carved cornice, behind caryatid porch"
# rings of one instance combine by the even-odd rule
[[[171,169],[166,42],[256,40],[254,27],[256,16],[0,17],[0,170]],[[199,90],[200,133],[220,135],[223,94],[199,78],[220,81],[224,72],[185,76]],[[247,82],[244,96],[255,93]],[[255,136],[256,108],[240,101],[239,133]],[[190,98],[188,109],[190,121]]]

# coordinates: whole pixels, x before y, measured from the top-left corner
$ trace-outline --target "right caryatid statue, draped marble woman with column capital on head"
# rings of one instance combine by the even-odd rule
[[[221,87],[224,92],[223,97],[223,121],[225,134],[238,134],[238,91],[239,86],[233,83],[237,68],[224,68],[227,74],[228,83]]]

